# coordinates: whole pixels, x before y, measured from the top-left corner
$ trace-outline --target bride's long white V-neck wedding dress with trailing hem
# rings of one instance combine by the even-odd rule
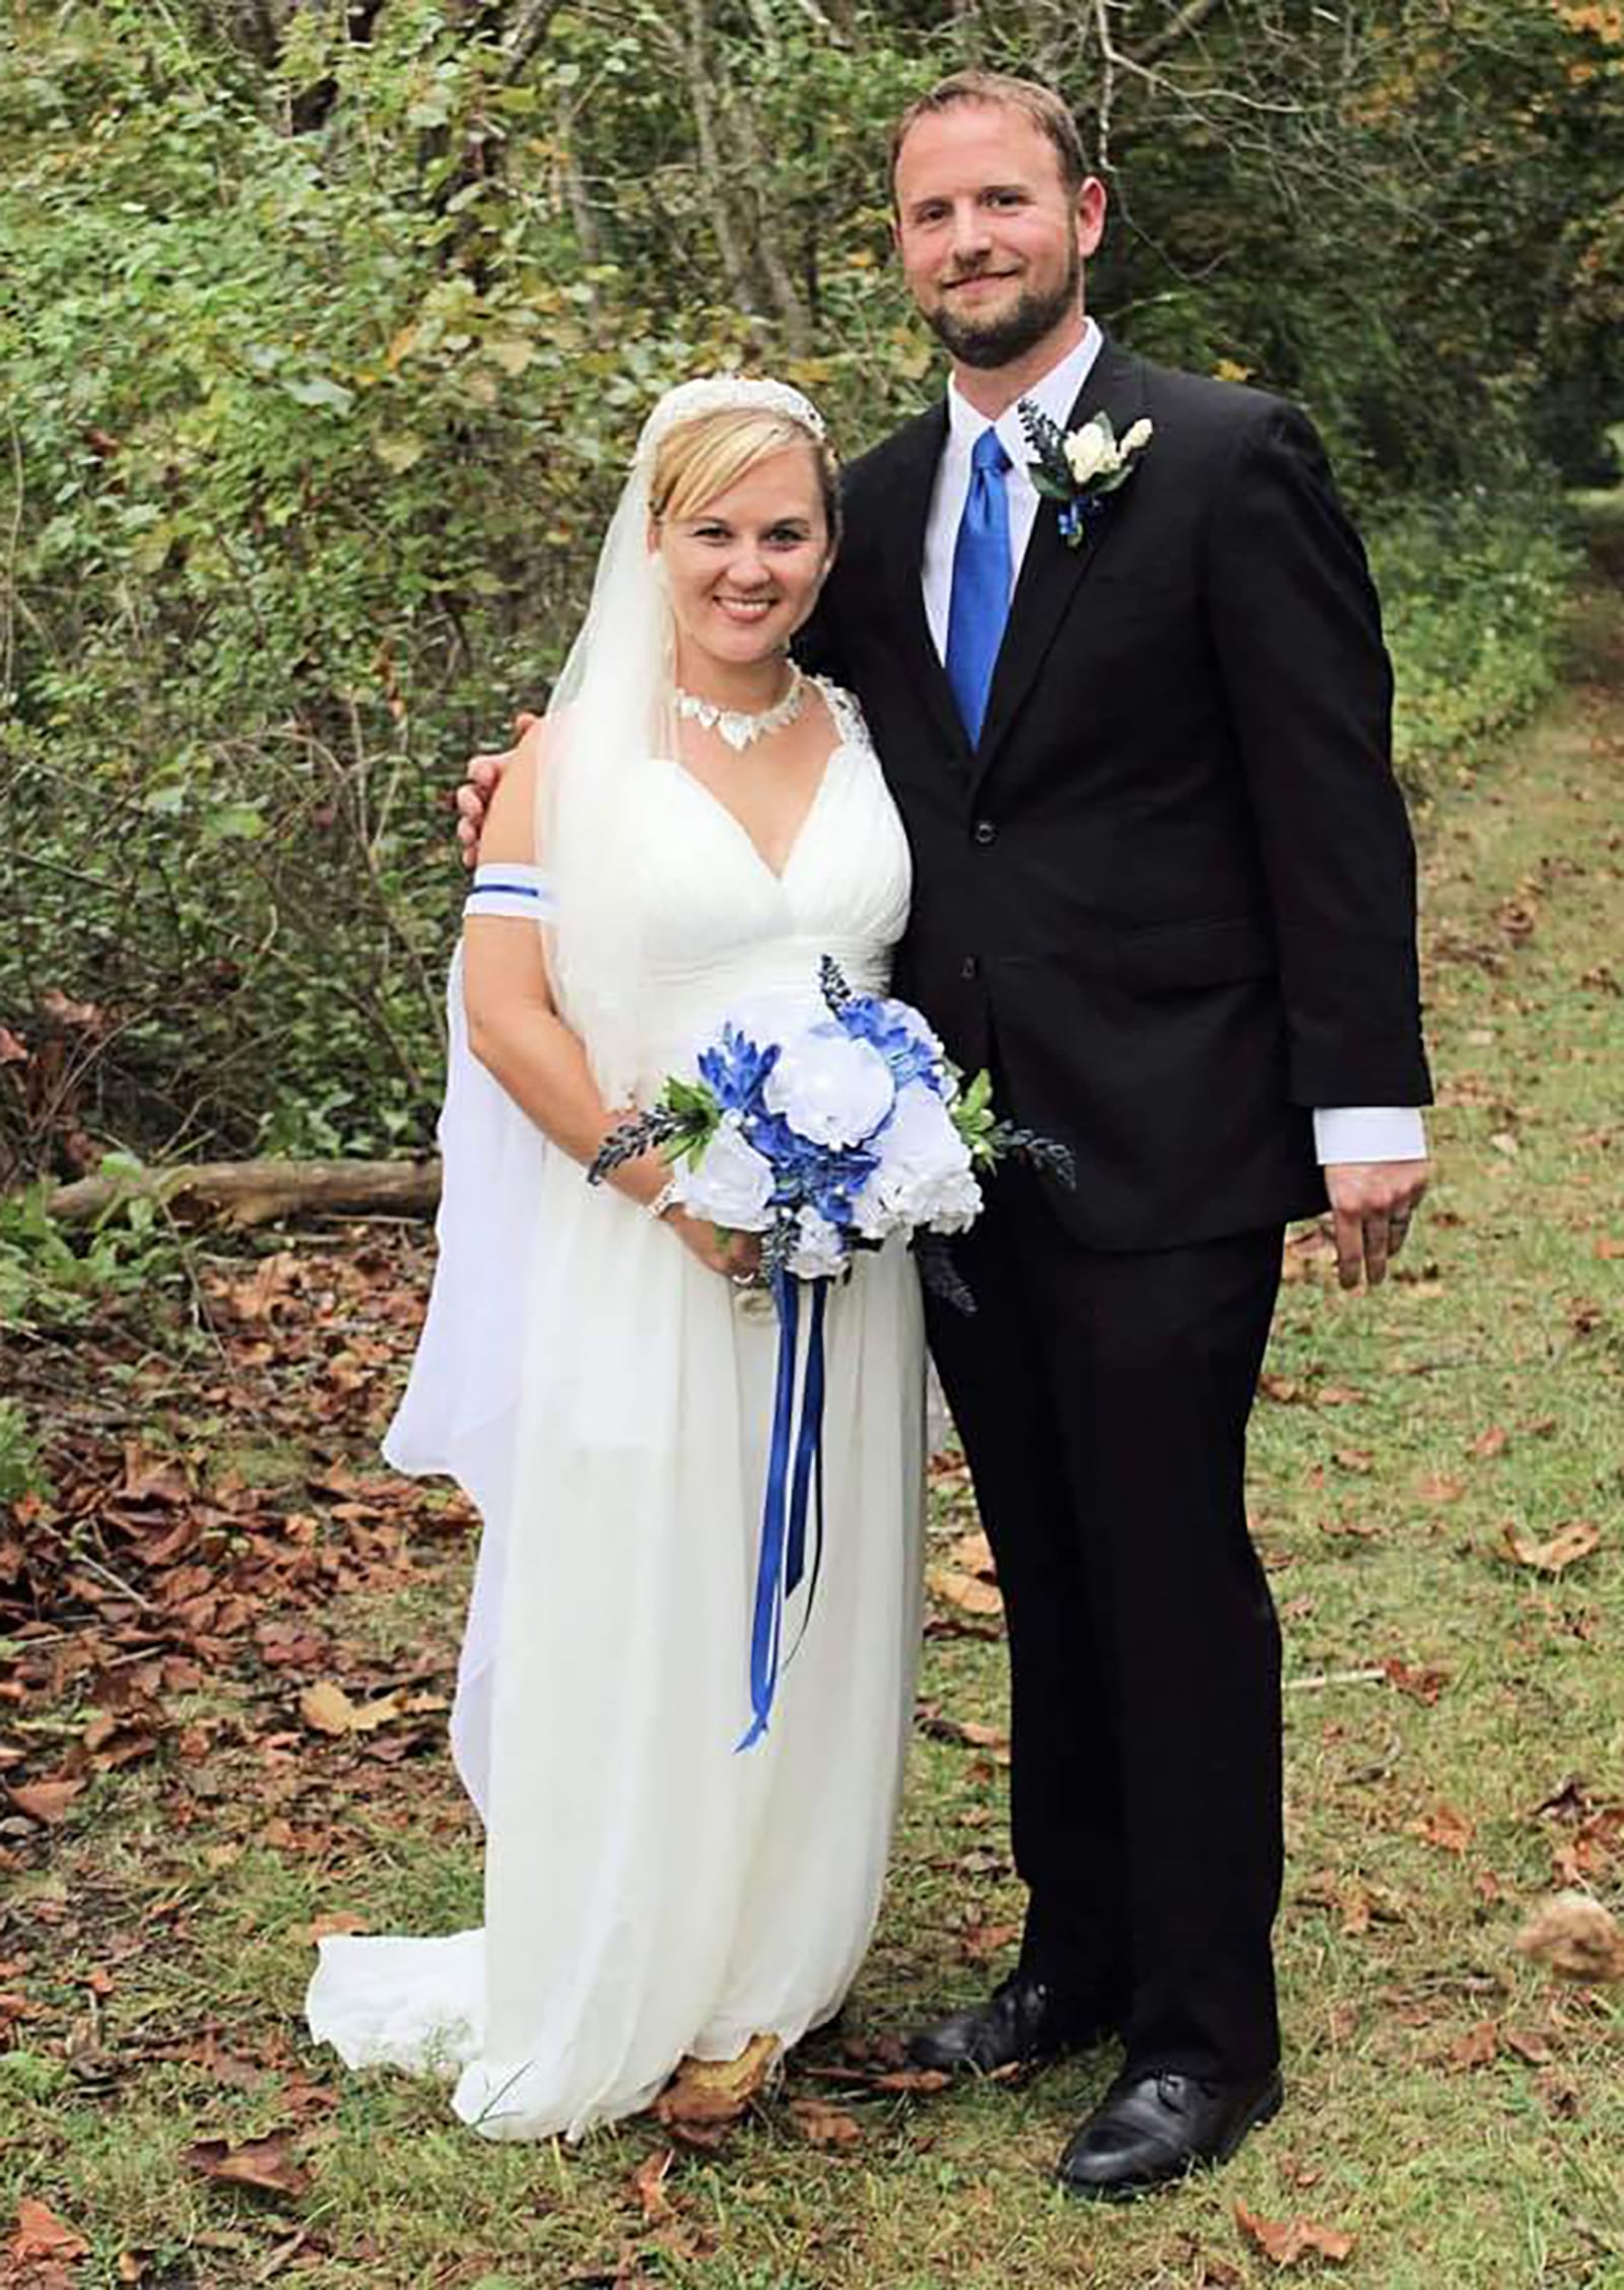
[[[842,737],[782,875],[677,763],[640,767],[645,1101],[723,1019],[814,998],[826,953],[853,987],[885,985],[908,847],[855,710],[830,705]],[[441,1353],[441,1305],[480,1310],[478,1271],[448,1248],[467,1191],[448,1211]],[[487,1534],[503,1514],[457,1708],[487,1818],[485,1928],[325,1940],[307,2011],[352,2066],[455,2072],[467,2123],[540,2139],[645,2107],[684,2052],[791,2045],[837,2011],[913,1708],[924,1369],[910,1257],[860,1255],[828,1303],[817,1601],[766,1736],[739,1752],[775,1319],[558,1152],[485,1202],[487,1243],[503,1211],[499,1246],[531,1260],[517,1404],[503,1418],[485,1397],[462,1456],[400,1429],[391,1450],[453,1461]],[[478,1360],[464,1401],[480,1413]]]

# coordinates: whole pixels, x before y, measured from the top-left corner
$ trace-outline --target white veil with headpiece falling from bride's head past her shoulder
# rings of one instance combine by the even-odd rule
[[[650,483],[675,428],[734,408],[782,414],[823,440],[817,408],[787,382],[707,373],[668,389],[643,424],[597,559],[592,602],[547,708],[535,854],[556,893],[554,985],[608,1106],[629,1104],[636,1081],[634,765],[677,753],[677,632],[666,570],[650,547]]]

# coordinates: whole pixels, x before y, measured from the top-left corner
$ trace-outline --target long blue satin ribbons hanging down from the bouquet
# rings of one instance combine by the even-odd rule
[[[766,1461],[766,1498],[762,1502],[762,1555],[755,1566],[755,1621],[750,1626],[750,1731],[739,1743],[755,1747],[766,1734],[766,1720],[778,1692],[785,1640],[785,1598],[801,1587],[807,1555],[807,1511],[814,1521],[812,1582],[807,1614],[823,1566],[823,1305],[828,1280],[814,1280],[807,1314],[807,1360],[801,1379],[801,1427],[796,1429],[796,1365],[801,1349],[801,1282],[789,1273],[773,1278],[778,1305],[778,1390],[773,1397],[773,1440]],[[794,1450],[794,1452],[791,1452]],[[801,1624],[805,1635],[805,1619]],[[798,1644],[798,1640],[796,1640]]]

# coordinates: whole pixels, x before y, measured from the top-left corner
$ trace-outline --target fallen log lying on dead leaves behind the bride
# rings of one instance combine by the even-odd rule
[[[46,1195],[64,1223],[87,1223],[126,1200],[153,1200],[172,1216],[217,1216],[268,1225],[279,1216],[432,1216],[439,1161],[194,1161],[181,1168],[80,1177]]]

